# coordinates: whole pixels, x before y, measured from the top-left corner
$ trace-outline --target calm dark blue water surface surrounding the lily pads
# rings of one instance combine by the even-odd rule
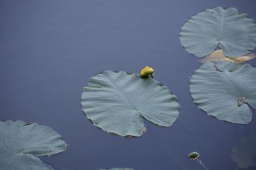
[[[0,1],[0,119],[47,125],[70,146],[41,159],[54,169],[111,167],[235,169],[234,145],[256,131],[209,117],[189,93],[201,64],[179,41],[180,27],[199,11],[235,7],[256,20],[255,0]],[[249,62],[256,66],[256,60]],[[172,127],[149,122],[141,138],[123,138],[95,127],[81,110],[81,92],[104,70],[139,73],[153,67],[180,103]],[[255,150],[255,148],[252,148]],[[254,158],[255,159],[255,158]],[[255,169],[251,167],[248,169]]]

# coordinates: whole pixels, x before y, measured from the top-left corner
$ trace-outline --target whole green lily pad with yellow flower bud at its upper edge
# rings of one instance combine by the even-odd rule
[[[142,117],[169,127],[179,115],[179,104],[166,87],[123,71],[93,76],[84,87],[82,106],[94,125],[120,136],[141,136]]]

